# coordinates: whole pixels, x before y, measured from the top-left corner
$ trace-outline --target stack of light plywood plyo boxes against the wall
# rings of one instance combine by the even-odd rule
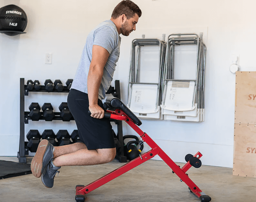
[[[236,72],[233,175],[256,177],[256,72]]]

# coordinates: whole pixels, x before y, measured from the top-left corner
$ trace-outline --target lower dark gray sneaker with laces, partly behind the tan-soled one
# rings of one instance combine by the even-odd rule
[[[56,175],[56,173],[58,172],[59,175],[59,169],[61,167],[53,167],[53,165],[51,163],[49,163],[47,165],[47,167],[44,169],[43,174],[41,175],[41,180],[42,183],[44,184],[44,186],[46,186],[47,188],[52,188],[53,187],[53,182],[54,182],[54,177]]]

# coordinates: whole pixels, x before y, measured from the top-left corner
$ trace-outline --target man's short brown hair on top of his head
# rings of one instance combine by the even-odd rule
[[[141,16],[141,9],[139,6],[130,0],[123,0],[114,8],[111,17],[116,19],[119,16],[125,14],[126,18],[129,19],[133,17],[135,13],[137,13],[139,17]]]

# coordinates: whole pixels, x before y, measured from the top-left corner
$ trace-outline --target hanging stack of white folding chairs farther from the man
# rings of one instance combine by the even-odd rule
[[[170,35],[165,57],[161,104],[164,119],[204,121],[206,46],[202,35]]]

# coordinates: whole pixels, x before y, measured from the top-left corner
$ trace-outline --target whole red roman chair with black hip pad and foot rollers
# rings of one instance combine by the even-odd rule
[[[199,158],[202,156],[200,152],[197,152],[194,156],[192,154],[187,154],[185,160],[187,163],[180,168],[176,163],[172,161],[172,159],[165,154],[165,152],[148,136],[147,133],[143,132],[138,126],[142,124],[142,122],[131,112],[122,101],[115,97],[108,97],[106,99],[106,104],[115,109],[115,111],[107,110],[105,113],[105,118],[115,119],[115,120],[122,120],[125,121],[129,126],[133,128],[136,133],[140,135],[142,141],[139,144],[143,144],[144,142],[147,143],[152,149],[148,152],[140,155],[139,157],[133,159],[132,161],[128,162],[127,164],[117,168],[116,170],[112,171],[111,173],[97,179],[96,181],[90,183],[89,185],[77,185],[76,186],[76,201],[83,202],[85,201],[85,195],[93,191],[94,189],[106,184],[107,182],[111,181],[112,179],[126,173],[127,171],[133,169],[134,167],[144,163],[145,161],[153,158],[155,155],[159,155],[163,161],[169,165],[172,169],[172,173],[175,173],[180,178],[180,181],[185,182],[190,190],[193,192],[202,202],[209,202],[211,201],[211,197],[206,195],[202,192],[201,189],[188,177],[186,174],[187,170],[194,166],[199,168],[202,163]]]

